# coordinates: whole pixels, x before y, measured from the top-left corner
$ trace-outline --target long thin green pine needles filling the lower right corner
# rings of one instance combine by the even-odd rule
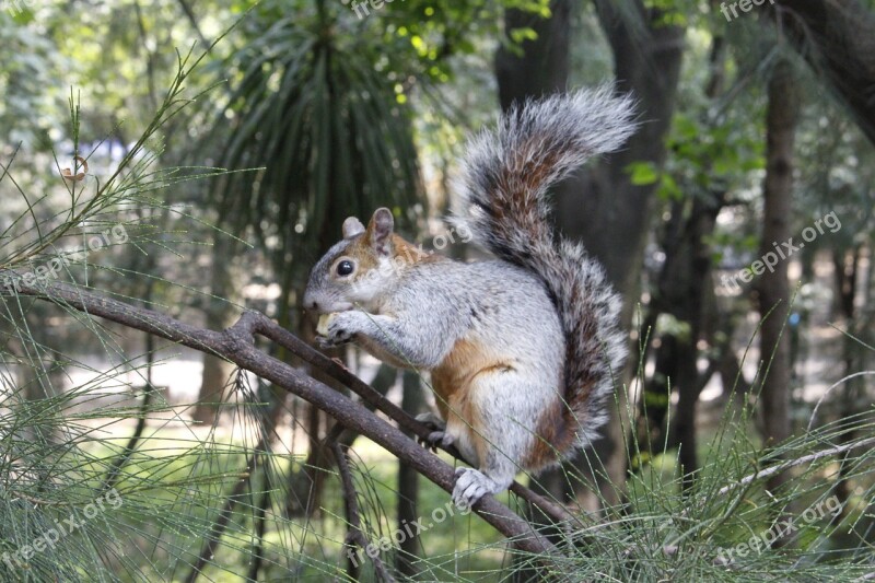
[[[563,541],[574,545],[567,547],[569,570],[586,581],[783,581],[788,573],[794,581],[851,581],[868,573],[873,411],[814,430],[812,419],[807,431],[767,447],[756,439],[755,410],[752,400],[738,406],[730,399],[719,424],[703,431],[705,462],[688,490],[672,454],[657,448],[642,467],[648,454],[632,438],[626,502],[611,505],[595,490],[607,518],[580,516],[581,524],[568,525]],[[780,470],[786,481],[767,490],[767,478]],[[842,476],[858,485],[847,499],[839,492]],[[772,546],[777,539],[781,544]]]

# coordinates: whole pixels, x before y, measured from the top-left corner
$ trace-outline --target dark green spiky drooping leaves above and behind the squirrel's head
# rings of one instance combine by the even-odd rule
[[[303,278],[346,217],[410,209],[421,196],[390,51],[348,14],[314,4],[259,21],[257,36],[217,69],[231,82],[209,138],[224,144],[223,165],[261,168],[256,179],[219,183],[219,217],[236,232],[252,229],[277,272],[291,271],[285,281]]]

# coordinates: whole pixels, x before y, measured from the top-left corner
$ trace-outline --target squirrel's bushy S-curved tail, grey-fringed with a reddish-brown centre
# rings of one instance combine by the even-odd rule
[[[582,245],[555,236],[547,190],[588,158],[619,148],[635,129],[632,116],[632,100],[610,86],[527,102],[502,116],[494,131],[475,137],[465,158],[456,222],[498,257],[536,272],[559,311],[565,404],[538,433],[544,447],[565,455],[587,445],[607,420],[604,400],[621,372],[627,340],[620,299],[602,267]],[[536,457],[550,457],[545,454]]]

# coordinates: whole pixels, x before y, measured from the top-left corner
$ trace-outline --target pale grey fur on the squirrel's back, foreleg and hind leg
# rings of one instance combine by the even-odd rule
[[[454,492],[457,504],[476,501],[463,495],[468,489],[479,495],[506,489],[525,469],[520,460],[536,439],[540,413],[562,398],[564,342],[544,284],[503,261],[442,260],[409,266],[390,290],[385,303],[368,312],[338,314],[328,326],[329,342],[354,340],[385,362],[423,371],[438,366],[460,339],[512,358],[513,371],[483,378],[471,390],[482,425],[453,417],[444,434],[434,434],[434,441],[455,444],[480,468],[478,475],[489,478],[477,481],[477,475],[469,475],[467,486]],[[478,459],[474,451],[475,432],[492,445],[488,459]]]

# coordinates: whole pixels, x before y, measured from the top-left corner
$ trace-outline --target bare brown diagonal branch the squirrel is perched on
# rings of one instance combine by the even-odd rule
[[[21,295],[52,302],[129,328],[153,334],[200,352],[226,359],[241,369],[247,370],[273,385],[312,403],[334,417],[347,429],[361,433],[392,452],[396,457],[404,459],[445,491],[452,492],[453,490],[455,482],[453,468],[407,438],[399,429],[369,411],[360,403],[345,397],[315,378],[307,376],[302,371],[256,349],[254,346],[256,335],[264,336],[287,348],[300,347],[303,343],[294,335],[280,328],[261,313],[244,312],[233,326],[223,331],[214,331],[191,326],[165,314],[135,307],[69,284],[32,284],[8,270],[0,271],[0,276],[14,278],[15,289]],[[9,289],[3,289],[0,295],[9,295],[10,293]],[[306,351],[301,352],[307,353]],[[305,358],[304,360],[307,359]],[[335,373],[339,374],[339,371],[335,371]],[[357,384],[353,382],[354,375],[348,371],[346,371],[346,375],[349,376],[350,385]],[[357,381],[362,383],[359,380]],[[362,387],[359,386],[359,388]],[[369,387],[369,392],[372,393],[373,389]],[[369,392],[363,390],[362,393],[368,395],[370,394]],[[364,395],[362,396],[364,397]],[[420,433],[419,428],[411,427],[411,430],[416,434]],[[494,497],[485,495],[471,510],[504,536],[513,539],[522,550],[537,555],[553,555],[556,552],[556,548],[547,538],[537,533],[527,521],[497,501]]]

